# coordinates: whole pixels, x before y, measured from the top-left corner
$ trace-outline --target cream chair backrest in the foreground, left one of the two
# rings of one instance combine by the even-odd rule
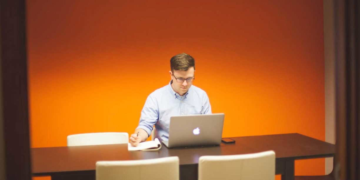
[[[179,158],[96,162],[96,180],[179,180]]]

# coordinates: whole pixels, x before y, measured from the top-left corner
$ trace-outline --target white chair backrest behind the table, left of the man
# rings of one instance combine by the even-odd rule
[[[97,132],[67,136],[68,146],[129,143],[127,132]]]

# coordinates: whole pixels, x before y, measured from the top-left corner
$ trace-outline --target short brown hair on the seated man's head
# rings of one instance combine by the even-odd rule
[[[195,70],[195,59],[189,54],[176,54],[170,59],[171,72],[188,71],[190,67],[194,67]]]

